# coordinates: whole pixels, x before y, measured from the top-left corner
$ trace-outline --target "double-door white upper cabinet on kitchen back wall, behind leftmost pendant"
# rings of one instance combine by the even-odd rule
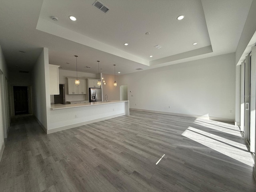
[[[86,94],[86,80],[78,78],[80,81],[80,84],[77,86],[75,84],[76,78],[73,77],[67,77],[68,79],[68,94]]]

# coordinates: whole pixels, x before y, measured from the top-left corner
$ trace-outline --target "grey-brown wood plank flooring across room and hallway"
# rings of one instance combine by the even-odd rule
[[[46,135],[27,116],[12,121],[0,192],[256,192],[253,163],[222,122],[130,111]]]

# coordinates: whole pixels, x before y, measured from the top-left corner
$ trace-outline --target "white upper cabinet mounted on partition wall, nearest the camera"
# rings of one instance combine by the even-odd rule
[[[50,95],[59,95],[59,65],[49,64],[50,73]]]

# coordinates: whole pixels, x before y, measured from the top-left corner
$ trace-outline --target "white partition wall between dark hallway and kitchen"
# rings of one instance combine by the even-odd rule
[[[43,48],[32,70],[32,102],[33,114],[44,130],[47,130],[47,109],[50,110],[49,84],[48,49]]]

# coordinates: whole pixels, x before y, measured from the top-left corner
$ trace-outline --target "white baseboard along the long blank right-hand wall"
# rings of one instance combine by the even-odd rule
[[[215,121],[228,122],[228,123],[235,122],[234,119],[220,118],[220,117],[200,116],[200,115],[192,115],[192,114],[172,113],[172,112],[154,111],[154,110],[146,110],[146,109],[135,109],[135,108],[130,108],[130,110],[151,112],[151,113],[160,113],[160,114],[167,114],[167,115],[175,115],[175,116],[182,116],[182,117],[200,118],[200,119],[215,120]]]

